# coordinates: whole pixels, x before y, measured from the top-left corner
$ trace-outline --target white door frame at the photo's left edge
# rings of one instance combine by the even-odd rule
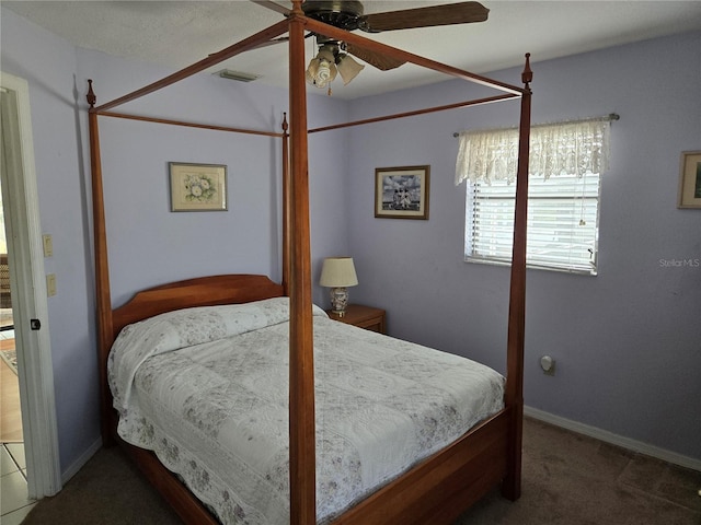
[[[30,498],[61,489],[30,88],[0,72],[2,199]],[[41,323],[36,328],[36,320]],[[34,325],[34,326],[33,326]]]

